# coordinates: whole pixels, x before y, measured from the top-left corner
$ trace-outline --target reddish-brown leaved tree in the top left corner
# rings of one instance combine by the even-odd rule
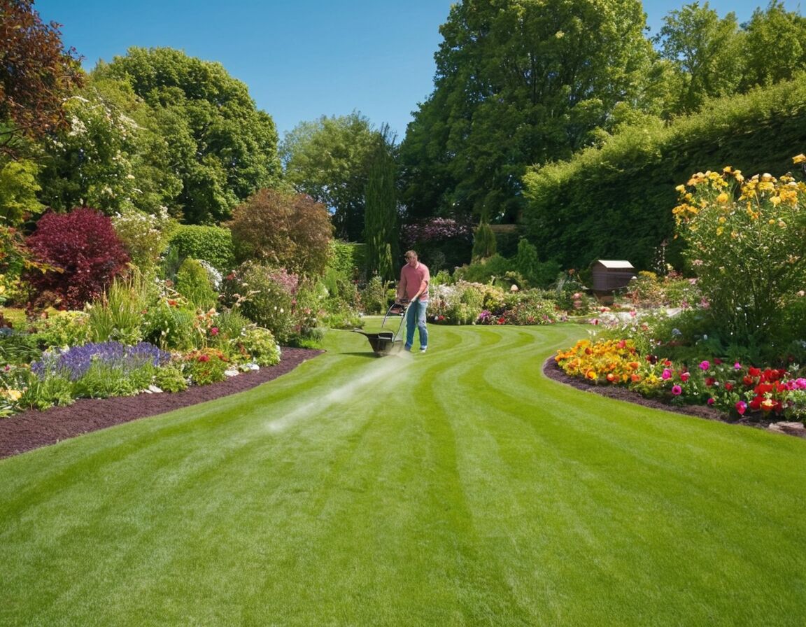
[[[75,50],[59,24],[42,23],[32,0],[0,0],[0,150],[20,135],[39,138],[66,124],[63,98],[81,83]]]

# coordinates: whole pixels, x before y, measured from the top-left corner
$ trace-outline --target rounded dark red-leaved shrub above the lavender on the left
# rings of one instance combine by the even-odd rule
[[[99,297],[129,261],[110,218],[89,207],[44,214],[26,243],[44,263],[62,270],[33,270],[27,281],[37,293],[55,293],[70,309]]]

